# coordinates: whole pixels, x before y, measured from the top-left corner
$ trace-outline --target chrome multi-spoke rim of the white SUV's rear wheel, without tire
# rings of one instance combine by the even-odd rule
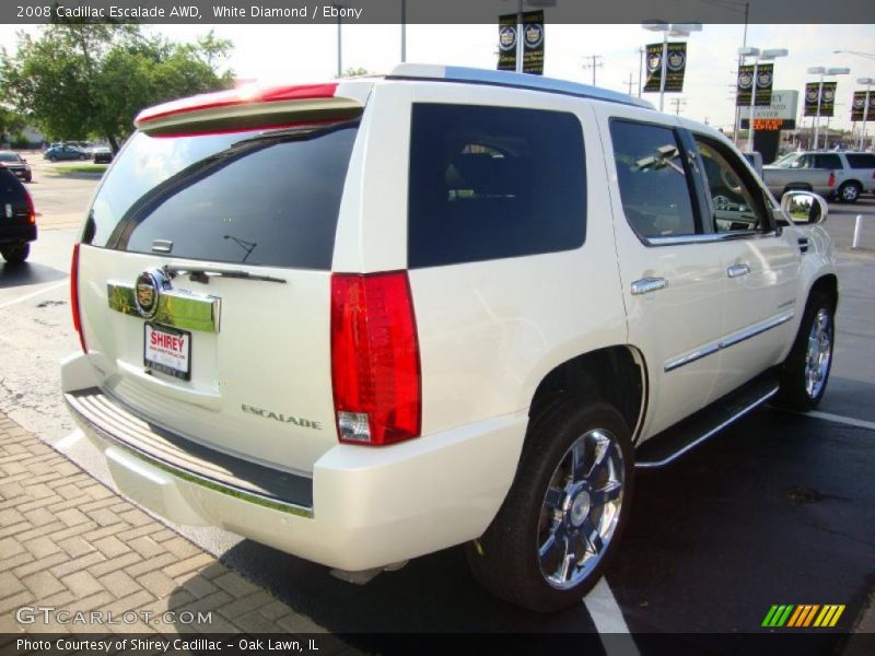
[[[574,441],[550,479],[538,523],[538,561],[550,586],[574,587],[602,560],[620,517],[622,489],[617,438],[595,429]]]

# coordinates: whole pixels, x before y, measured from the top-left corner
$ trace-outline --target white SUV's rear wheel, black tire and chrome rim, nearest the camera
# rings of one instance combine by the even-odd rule
[[[565,399],[534,419],[516,479],[486,534],[466,547],[492,594],[540,612],[595,586],[629,514],[633,456],[623,417]]]

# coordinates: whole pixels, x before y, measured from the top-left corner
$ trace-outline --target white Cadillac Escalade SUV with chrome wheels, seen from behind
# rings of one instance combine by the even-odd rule
[[[535,77],[402,65],[147,109],[72,263],[63,394],[118,488],[346,573],[466,544],[548,611],[635,468],[820,400],[822,201],[718,131]]]

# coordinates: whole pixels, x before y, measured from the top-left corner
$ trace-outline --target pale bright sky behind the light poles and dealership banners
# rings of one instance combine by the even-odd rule
[[[548,16],[549,21],[549,16]],[[329,80],[337,73],[337,25],[152,25],[149,30],[174,40],[194,40],[210,28],[234,44],[223,62],[240,79],[259,82],[310,82]],[[0,25],[0,46],[12,51],[18,30],[33,26]],[[592,68],[584,65],[599,55],[596,84],[638,94],[639,48],[661,42],[661,35],[640,25],[550,25],[545,27],[545,75],[592,83]],[[400,61],[399,25],[351,25],[341,27],[342,67],[385,73]],[[666,94],[666,110],[675,112],[672,98],[679,97],[681,116],[731,128],[732,99],[742,47],[744,25],[709,25],[686,39],[685,91]],[[675,39],[672,39],[675,40]],[[407,61],[445,63],[494,69],[498,27],[495,25],[408,25]],[[875,78],[875,24],[862,25],[748,25],[747,45],[760,49],[786,48],[789,56],[775,60],[774,89],[802,92],[806,82],[817,81],[806,69],[815,66],[849,67],[851,73],[830,78],[838,81],[836,117],[831,127],[850,129],[852,92],[864,86],[861,77]],[[835,50],[870,54],[865,58]],[[658,104],[658,94],[645,93]],[[800,112],[802,107],[800,106]],[[810,119],[806,119],[810,121]],[[825,119],[821,119],[825,120]],[[870,126],[870,133],[875,126]]]

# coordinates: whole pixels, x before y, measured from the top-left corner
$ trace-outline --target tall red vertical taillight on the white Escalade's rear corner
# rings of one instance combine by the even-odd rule
[[[419,436],[419,342],[407,271],[331,276],[331,384],[340,442]]]

